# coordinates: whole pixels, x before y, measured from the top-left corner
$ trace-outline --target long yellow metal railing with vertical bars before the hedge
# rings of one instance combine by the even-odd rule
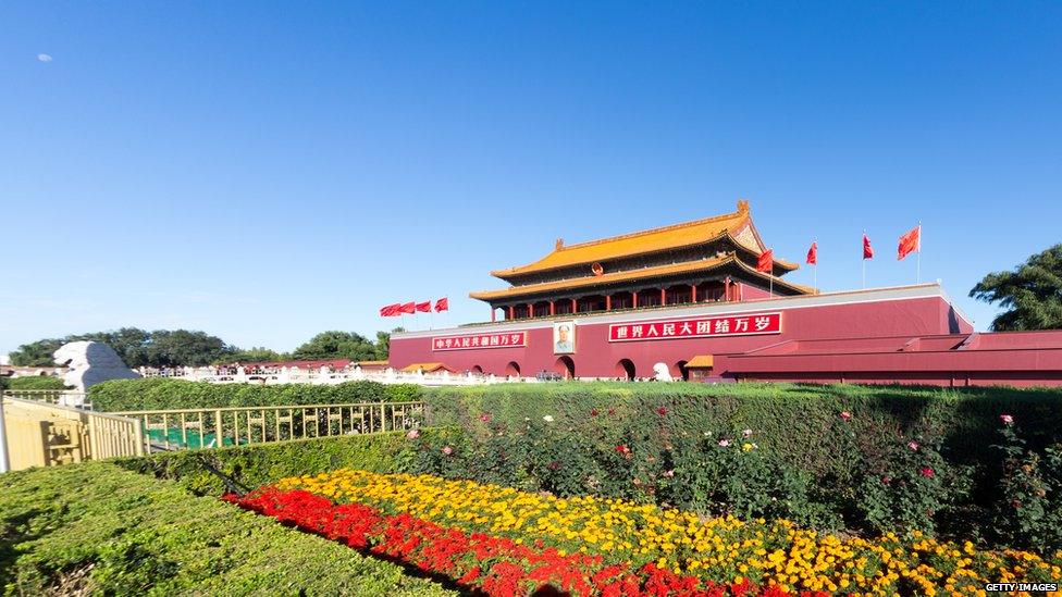
[[[359,402],[113,414],[141,423],[146,449],[181,450],[406,431],[421,424],[425,411],[423,402]]]

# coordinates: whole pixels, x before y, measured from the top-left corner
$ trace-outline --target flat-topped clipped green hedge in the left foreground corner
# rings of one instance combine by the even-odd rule
[[[324,538],[90,462],[0,475],[5,595],[444,595]]]

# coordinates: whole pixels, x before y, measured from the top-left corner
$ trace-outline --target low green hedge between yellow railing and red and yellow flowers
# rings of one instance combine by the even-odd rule
[[[420,434],[421,437],[433,437],[447,432],[422,430]],[[225,485],[203,462],[240,486],[252,489],[286,476],[318,474],[342,468],[380,473],[405,472],[413,459],[413,443],[403,433],[386,433],[217,450],[162,452],[141,458],[118,459],[114,463],[139,473],[175,481],[197,495],[218,496],[225,490]]]

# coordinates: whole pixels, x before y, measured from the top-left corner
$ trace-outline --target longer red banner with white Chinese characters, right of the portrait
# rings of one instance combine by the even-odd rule
[[[608,326],[608,341],[626,343],[665,338],[705,338],[780,333],[781,313],[755,313],[689,320],[614,323]]]

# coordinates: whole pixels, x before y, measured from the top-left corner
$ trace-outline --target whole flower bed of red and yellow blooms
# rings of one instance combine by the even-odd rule
[[[310,495],[318,497],[312,500]],[[335,506],[333,500],[343,503]],[[613,585],[594,581],[604,570],[632,575],[630,582],[650,593],[656,586],[651,579],[664,576],[672,588],[679,586],[674,583],[686,583],[682,586],[691,589],[719,590],[708,583],[749,581],[779,593],[882,595],[976,594],[988,582],[1050,582],[1062,576],[1062,552],[1044,559],[1025,551],[983,551],[971,543],[939,542],[917,532],[905,538],[887,534],[873,540],[842,539],[785,520],[705,520],[652,505],[594,497],[559,499],[428,475],[339,470],[283,480],[244,503],[313,532],[343,536],[356,547],[409,556],[410,563],[455,579],[479,567],[473,576],[486,575],[473,586],[487,592],[486,579],[503,573],[518,576],[520,583],[604,592]],[[388,528],[404,531],[391,536]],[[413,540],[415,536],[420,538]],[[442,536],[450,537],[445,543],[449,547],[421,545],[425,540],[434,545]],[[395,543],[403,537],[412,543]],[[399,549],[402,545],[411,551]],[[497,556],[496,549],[504,556]],[[477,559],[468,560],[469,554]],[[546,558],[545,554],[548,562],[536,559]],[[542,567],[547,563],[559,568],[546,574]],[[517,565],[522,572],[506,573],[510,569],[497,568],[501,564]],[[585,585],[572,584],[576,580]],[[738,589],[752,585],[741,584]]]

